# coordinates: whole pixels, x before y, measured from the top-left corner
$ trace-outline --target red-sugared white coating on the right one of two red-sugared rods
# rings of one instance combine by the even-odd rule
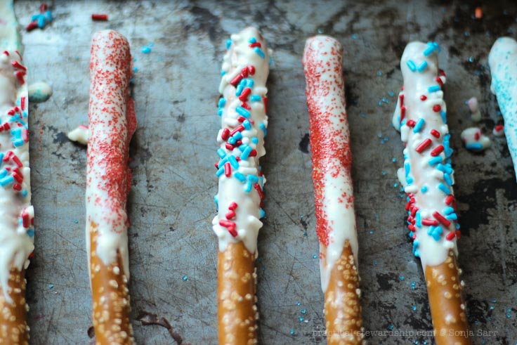
[[[306,41],[303,70],[310,119],[316,230],[320,240],[320,275],[327,291],[334,264],[346,240],[358,265],[358,238],[351,176],[352,153],[342,75],[343,47],[318,35]]]

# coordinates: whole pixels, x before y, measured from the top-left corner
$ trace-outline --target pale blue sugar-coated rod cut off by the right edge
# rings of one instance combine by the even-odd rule
[[[504,118],[504,135],[517,174],[517,41],[510,37],[497,39],[490,50],[488,65],[492,74],[490,89]]]

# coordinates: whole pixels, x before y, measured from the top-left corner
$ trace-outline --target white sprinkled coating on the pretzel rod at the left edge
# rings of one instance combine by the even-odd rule
[[[12,1],[0,15],[0,284],[8,296],[11,268],[27,268],[34,250],[34,208],[30,204],[30,167],[26,69]]]

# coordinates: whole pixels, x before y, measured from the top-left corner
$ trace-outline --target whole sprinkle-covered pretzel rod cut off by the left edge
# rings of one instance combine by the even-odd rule
[[[25,268],[34,250],[27,68],[12,1],[0,4],[0,344],[28,344]]]

